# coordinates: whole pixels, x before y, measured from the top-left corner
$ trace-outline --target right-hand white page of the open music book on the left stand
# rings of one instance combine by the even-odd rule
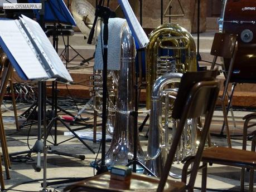
[[[36,21],[33,21],[32,19],[23,15],[22,15],[21,21],[28,26],[28,28],[30,29],[30,32],[32,32],[32,35],[36,37],[37,42],[39,43],[45,55],[50,61],[49,64],[51,66],[51,70],[54,73],[55,77],[61,77],[64,80],[72,82],[73,81],[72,77],[70,76],[69,72],[64,66],[64,63],[61,61],[59,55],[54,50],[54,47],[51,45],[51,42],[49,41],[48,37],[45,35],[45,32],[42,30],[40,25]]]

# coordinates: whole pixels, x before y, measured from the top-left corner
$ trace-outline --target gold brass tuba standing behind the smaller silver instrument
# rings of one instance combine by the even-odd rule
[[[196,45],[183,27],[166,23],[149,35],[146,49],[146,105],[150,109],[154,81],[165,73],[196,71]]]

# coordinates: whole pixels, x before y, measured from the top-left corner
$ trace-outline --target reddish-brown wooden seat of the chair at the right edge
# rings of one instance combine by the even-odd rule
[[[228,147],[210,147],[202,153],[202,161],[256,168],[256,152]]]

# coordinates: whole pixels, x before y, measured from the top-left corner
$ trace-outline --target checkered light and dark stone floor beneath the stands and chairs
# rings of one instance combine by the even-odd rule
[[[64,103],[65,100],[62,100]],[[69,102],[69,101],[67,101]],[[72,105],[72,104],[69,104]],[[9,109],[9,105],[6,105]],[[18,103],[18,107],[22,108],[24,104]],[[26,105],[25,105],[26,106]],[[83,105],[78,105],[78,108],[81,109]],[[19,109],[18,114],[21,114],[26,108]],[[70,110],[73,114],[76,114],[77,111],[75,109]],[[89,120],[86,121],[86,124],[92,125],[92,110],[90,107],[86,108],[86,110],[81,114],[83,117],[90,117]],[[231,127],[231,135],[239,135],[241,134],[243,127],[243,120],[241,119],[246,114],[251,111],[247,111],[247,109],[240,109],[239,111],[234,111],[236,127],[234,127],[231,119],[230,127]],[[30,127],[23,127],[21,130],[17,131],[15,127],[15,123],[12,117],[12,111],[7,110],[3,113],[4,118],[4,128],[6,130],[7,144],[9,153],[18,152],[18,151],[26,151],[28,147],[32,147],[35,141],[37,140],[37,125],[33,125]],[[61,113],[60,113],[61,116]],[[143,121],[145,115],[139,115],[139,124]],[[19,120],[20,123],[24,121],[24,119]],[[214,118],[211,124],[211,133],[218,134],[220,132],[220,127],[222,125],[223,117],[222,112],[216,109],[214,113]],[[149,121],[148,121],[149,122]],[[81,127],[81,126],[72,126]],[[147,149],[147,140],[144,137],[146,133],[147,125],[144,127],[143,132],[140,133],[140,140],[143,150]],[[254,128],[252,128],[254,130]],[[85,131],[85,130],[80,130]],[[91,129],[86,129],[86,131],[91,131]],[[99,128],[100,131],[100,128]],[[67,132],[67,129],[61,125],[60,123],[57,126],[57,142],[64,141],[69,139],[71,136],[64,136],[64,132]],[[51,134],[48,137],[48,141],[52,142],[54,131],[51,131]],[[225,132],[224,132],[225,134]],[[29,135],[29,136],[28,136]],[[221,137],[212,136],[212,141],[218,144],[219,146],[226,146],[226,139]],[[69,178],[85,178],[88,176],[93,176],[95,171],[91,168],[91,161],[95,160],[96,154],[93,154],[86,146],[81,144],[78,139],[73,139],[66,141],[58,146],[53,146],[50,142],[47,142],[47,145],[52,148],[52,150],[59,150],[62,152],[69,152],[71,154],[83,154],[85,155],[85,160],[75,159],[74,157],[60,156],[55,154],[47,154],[47,181],[56,181],[59,179],[69,179]],[[98,151],[99,142],[93,143],[92,141],[85,140],[86,144],[88,144],[94,151]],[[110,142],[107,143],[109,146]],[[232,140],[233,147],[241,148],[241,140],[240,137],[233,137]],[[250,142],[248,145],[248,149],[250,146]],[[98,155],[98,159],[100,158],[100,153]],[[41,165],[43,164],[43,157],[41,156]],[[6,191],[13,190],[21,190],[21,191],[40,191],[41,182],[43,178],[43,171],[36,172],[35,165],[37,162],[37,154],[32,153],[31,157],[24,156],[13,157],[11,162],[11,179],[5,180]],[[181,164],[179,166],[182,166]],[[4,173],[5,175],[5,173]],[[232,168],[229,166],[220,166],[213,165],[209,167],[209,174],[207,178],[207,188],[208,191],[225,191],[229,189],[230,191],[238,191],[239,190],[239,176],[240,169]],[[248,173],[247,178],[248,182]],[[197,176],[195,186],[200,188],[201,182],[201,171]],[[62,189],[69,184],[58,184],[58,185],[50,185],[49,188],[53,191],[62,191]],[[248,186],[248,183],[246,183]],[[214,189],[214,190],[211,190]],[[199,190],[200,191],[200,190]]]

